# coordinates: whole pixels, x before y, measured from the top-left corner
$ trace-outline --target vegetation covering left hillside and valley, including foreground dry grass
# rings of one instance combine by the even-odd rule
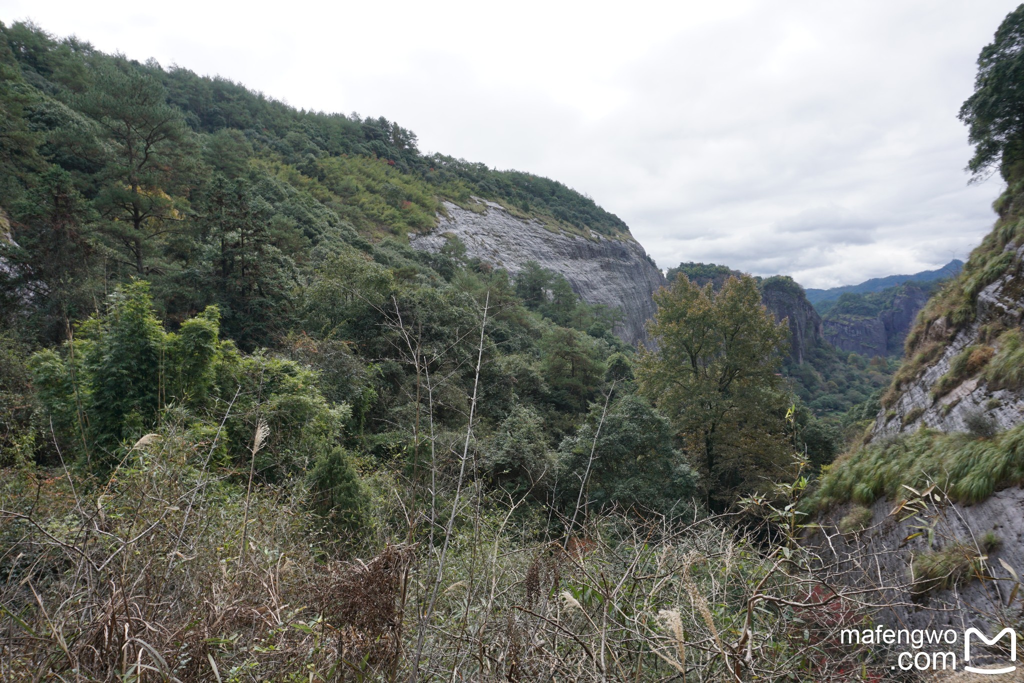
[[[897,364],[798,356],[792,279],[681,264],[634,347],[536,262],[410,246],[479,200],[632,240],[558,181],[25,23],[0,112],[0,678],[881,666],[798,541]]]

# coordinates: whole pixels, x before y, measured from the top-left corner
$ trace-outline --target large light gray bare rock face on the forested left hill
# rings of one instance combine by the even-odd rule
[[[444,203],[447,217],[427,234],[410,234],[414,249],[436,252],[445,236],[458,237],[467,254],[505,268],[514,278],[526,261],[561,273],[588,303],[617,307],[623,322],[615,333],[629,343],[646,337],[644,323],[654,314],[651,296],[666,285],[665,275],[633,241],[595,234],[587,240],[556,233],[538,220],[522,220],[501,205],[486,202],[482,213]]]

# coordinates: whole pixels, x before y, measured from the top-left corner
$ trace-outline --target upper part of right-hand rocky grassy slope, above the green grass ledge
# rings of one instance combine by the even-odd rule
[[[929,300],[907,357],[883,396],[872,437],[928,426],[1001,431],[1024,422],[1024,208],[1021,187],[996,203],[999,219],[963,272]]]

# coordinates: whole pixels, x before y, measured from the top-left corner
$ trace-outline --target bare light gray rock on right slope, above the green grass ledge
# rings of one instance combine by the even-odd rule
[[[922,425],[945,432],[969,431],[968,422],[987,420],[996,430],[1010,429],[1024,422],[1024,395],[1019,391],[992,390],[981,377],[965,381],[938,400],[932,399],[932,387],[949,370],[953,357],[972,344],[980,343],[981,329],[992,323],[1000,323],[1007,328],[1020,327],[1022,306],[1021,259],[1024,247],[1017,249],[1013,243],[1008,250],[1015,250],[1013,265],[994,283],[978,294],[978,314],[968,328],[956,333],[952,341],[943,349],[942,355],[925,372],[903,387],[896,403],[887,411],[883,409],[874,421],[872,438],[911,432]],[[940,321],[933,325],[936,333],[941,333]]]

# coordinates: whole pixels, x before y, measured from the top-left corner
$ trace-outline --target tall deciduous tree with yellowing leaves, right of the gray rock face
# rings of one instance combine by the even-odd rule
[[[672,419],[701,470],[709,507],[721,510],[788,463],[778,374],[788,328],[765,309],[750,275],[729,278],[718,292],[680,275],[654,300],[640,388]]]

